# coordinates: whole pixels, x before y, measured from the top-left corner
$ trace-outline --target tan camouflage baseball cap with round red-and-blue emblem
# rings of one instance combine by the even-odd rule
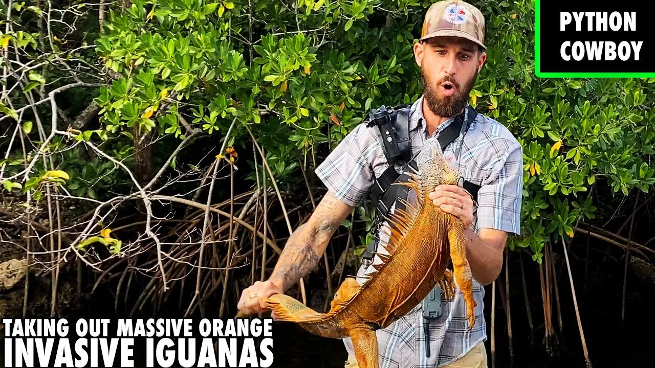
[[[438,1],[425,14],[421,41],[438,36],[462,37],[486,48],[485,17],[479,9],[464,1]]]

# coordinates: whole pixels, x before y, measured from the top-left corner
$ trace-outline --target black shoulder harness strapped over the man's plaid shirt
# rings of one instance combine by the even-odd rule
[[[368,244],[364,252],[364,261],[373,259],[373,252],[377,248],[378,234],[380,223],[388,215],[394,202],[398,198],[407,199],[408,187],[404,185],[391,185],[397,181],[407,181],[408,166],[417,169],[415,157],[411,157],[411,147],[409,142],[409,113],[411,105],[401,105],[398,107],[381,106],[379,109],[373,109],[366,118],[367,126],[377,126],[380,135],[378,139],[383,147],[384,156],[388,161],[388,168],[375,179],[375,185],[371,189],[371,200],[375,204],[375,225],[373,231],[373,241]],[[476,119],[477,112],[473,107],[466,107],[466,111],[455,118],[437,138],[441,144],[441,149],[453,143],[460,134],[466,134],[471,123]],[[466,119],[466,121],[464,121]],[[461,147],[457,147],[455,156],[459,156]],[[477,200],[479,185],[464,180],[462,187],[470,193],[474,200]],[[402,202],[396,202],[396,208],[403,208]]]

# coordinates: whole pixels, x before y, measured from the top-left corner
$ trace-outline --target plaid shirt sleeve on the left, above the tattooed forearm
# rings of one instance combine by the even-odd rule
[[[337,198],[357,206],[371,189],[375,174],[373,157],[377,138],[365,124],[359,124],[316,168],[316,176]]]

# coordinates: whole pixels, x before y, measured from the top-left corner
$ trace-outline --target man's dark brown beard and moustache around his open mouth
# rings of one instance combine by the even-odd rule
[[[423,94],[430,111],[434,115],[440,117],[454,117],[455,115],[461,113],[468,103],[468,94],[473,89],[474,84],[476,84],[477,72],[473,78],[468,81],[464,88],[460,88],[460,85],[455,82],[450,77],[444,77],[438,83],[428,83],[428,77],[425,75],[425,71],[421,69],[421,80],[423,83]],[[449,81],[455,85],[457,88],[453,96],[445,96],[441,98],[436,90],[436,88],[441,88],[440,84]]]

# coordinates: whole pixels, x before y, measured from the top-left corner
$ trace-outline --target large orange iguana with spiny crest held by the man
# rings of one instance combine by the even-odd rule
[[[326,313],[283,294],[265,301],[277,320],[299,323],[322,337],[352,338],[360,368],[378,367],[376,329],[407,314],[436,284],[441,285],[447,298],[455,295],[453,274],[447,271],[451,261],[457,285],[464,293],[469,328],[475,323],[476,302],[466,260],[464,226],[458,217],[441,211],[427,197],[437,185],[457,185],[460,175],[447,164],[435,138],[427,139],[416,162],[417,171],[410,173],[411,179],[398,184],[413,189],[417,201],[405,201],[407,210],[395,210],[389,215],[390,237],[384,247],[388,255],[377,253],[383,263],[373,265],[375,272],[364,284],[346,278]]]

